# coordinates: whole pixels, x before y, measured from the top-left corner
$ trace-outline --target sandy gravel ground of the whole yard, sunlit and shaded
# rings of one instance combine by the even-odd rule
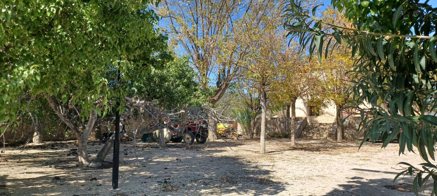
[[[191,149],[139,143],[137,160],[132,144],[124,142],[119,189],[112,190],[111,168],[76,167],[74,142],[46,142],[42,149],[0,153],[0,196],[414,195],[411,177],[393,182],[393,174],[352,169],[396,172],[398,162],[422,163],[419,155],[399,157],[396,143],[381,149],[381,143],[366,142],[358,151],[359,143],[298,139],[291,146],[288,139],[267,139],[265,155],[257,153],[255,139],[206,142]],[[102,146],[90,142],[91,158]],[[429,195],[429,188],[422,193]]]

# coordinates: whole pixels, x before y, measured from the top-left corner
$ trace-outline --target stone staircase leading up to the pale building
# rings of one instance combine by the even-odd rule
[[[329,132],[332,129],[332,123],[308,123],[303,128],[299,138],[302,139],[330,139]]]

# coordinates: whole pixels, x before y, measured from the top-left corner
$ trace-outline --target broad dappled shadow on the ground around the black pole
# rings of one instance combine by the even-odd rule
[[[90,142],[95,156],[101,144]],[[207,146],[212,148],[204,149]],[[239,145],[237,142],[232,146]],[[187,149],[179,144],[160,147],[138,144],[136,155],[129,143],[120,146],[119,189],[111,189],[112,169],[74,167],[76,158],[71,146],[41,149],[38,154],[10,154],[0,158],[0,169],[13,169],[3,175],[4,195],[274,195],[285,190],[287,182],[270,176],[273,171],[218,155],[225,151],[219,144],[194,145]],[[20,161],[18,161],[20,160]],[[68,161],[71,160],[71,161]],[[112,152],[106,158],[112,161]],[[62,166],[71,166],[66,169]],[[60,169],[56,169],[60,168]]]

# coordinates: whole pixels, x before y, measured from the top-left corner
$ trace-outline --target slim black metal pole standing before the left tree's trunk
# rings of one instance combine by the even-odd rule
[[[121,59],[121,58],[120,58]],[[120,62],[118,62],[118,67],[120,67]],[[120,86],[120,69],[118,68],[117,75],[118,87]],[[118,112],[118,107],[120,102],[117,101],[115,104],[115,139],[114,139],[114,151],[112,156],[112,189],[118,188],[118,159],[120,158],[120,113]]]

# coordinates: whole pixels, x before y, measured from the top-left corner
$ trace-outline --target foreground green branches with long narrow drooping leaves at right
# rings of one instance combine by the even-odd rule
[[[413,189],[418,195],[418,186],[430,178],[437,180],[437,166],[429,159],[435,160],[437,141],[435,8],[416,0],[333,0],[333,6],[354,22],[353,27],[347,27],[312,17],[317,8],[302,9],[305,3],[290,1],[286,6],[284,27],[291,39],[297,38],[302,46],[312,41],[310,48],[317,52],[319,61],[328,55],[328,50],[322,53],[323,46],[335,49],[346,44],[354,57],[354,70],[350,72],[354,95],[351,106],[344,109],[361,113],[364,138],[370,135],[375,140],[381,133],[385,147],[397,137],[399,155],[406,149],[413,151],[413,146],[417,148],[425,161],[422,169],[401,162],[406,168],[395,179],[402,174],[415,175]],[[324,45],[325,41],[328,44]],[[432,194],[436,190],[434,183]]]

